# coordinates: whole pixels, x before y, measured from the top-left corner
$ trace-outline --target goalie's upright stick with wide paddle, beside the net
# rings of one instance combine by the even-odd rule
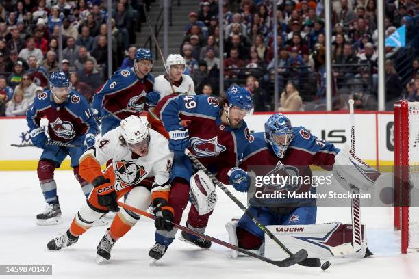
[[[349,100],[349,118],[351,119],[351,151],[355,155],[355,113],[353,100]],[[359,189],[351,185],[351,194],[359,194]],[[351,217],[352,217],[352,242],[355,252],[361,250],[361,201],[359,198],[351,198]]]

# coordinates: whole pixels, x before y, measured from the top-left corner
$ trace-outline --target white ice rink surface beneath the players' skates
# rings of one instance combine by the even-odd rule
[[[216,243],[210,250],[200,250],[178,239],[151,267],[148,252],[155,243],[155,228],[153,221],[145,217],[118,240],[110,261],[97,265],[94,263],[96,247],[107,226],[91,228],[70,248],[58,252],[47,250],[47,242],[66,232],[85,202],[73,171],[55,172],[64,220],[58,226],[36,225],[36,214],[45,209],[45,202],[35,171],[0,172],[0,175],[3,180],[0,187],[0,264],[53,265],[53,276],[36,278],[419,278],[419,252],[400,254],[400,233],[392,230],[392,207],[363,207],[361,210],[362,222],[367,225],[368,245],[374,256],[331,259],[327,271],[299,265],[280,268],[248,257],[233,260],[229,250]],[[242,212],[222,191],[217,194],[218,204],[205,233],[228,241],[225,223]],[[236,191],[234,194],[245,202],[244,194]],[[188,210],[183,217],[187,213]],[[317,223],[349,223],[350,220],[349,207],[318,209]],[[12,278],[19,277],[28,278]]]

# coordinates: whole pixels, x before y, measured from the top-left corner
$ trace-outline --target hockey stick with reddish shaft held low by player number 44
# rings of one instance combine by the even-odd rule
[[[155,215],[153,215],[151,213],[148,213],[146,211],[142,211],[141,209],[137,209],[135,207],[131,207],[130,205],[125,204],[123,202],[118,202],[118,205],[120,207],[122,207],[123,209],[127,209],[129,211],[133,211],[133,212],[135,212],[137,214],[140,214],[142,216],[149,217],[150,219],[153,219],[153,220],[157,219],[157,217],[155,217]],[[219,245],[222,245],[224,247],[230,248],[232,250],[236,250],[238,252],[242,252],[243,254],[246,254],[248,256],[253,256],[253,258],[258,258],[259,260],[264,261],[266,263],[270,263],[272,265],[276,265],[277,267],[289,267],[290,265],[293,265],[294,263],[297,263],[298,262],[297,257],[299,255],[297,255],[297,254],[292,255],[292,257],[290,257],[290,258],[285,258],[285,260],[282,260],[282,261],[273,261],[270,258],[266,258],[264,256],[260,256],[258,254],[253,253],[253,252],[250,252],[249,250],[240,248],[240,247],[238,247],[236,245],[227,243],[227,242],[222,241],[220,239],[216,239],[215,237],[210,237],[209,235],[204,235],[203,233],[199,233],[199,232],[197,232],[195,230],[191,230],[190,228],[187,228],[185,226],[181,226],[181,225],[175,224],[173,222],[172,222],[172,224],[173,224],[173,226],[175,228],[178,228],[179,230],[183,230],[186,233],[190,233],[192,235],[196,235],[196,237],[202,237],[203,239],[207,239],[209,241],[213,241],[213,242],[215,242],[215,243],[217,243]]]

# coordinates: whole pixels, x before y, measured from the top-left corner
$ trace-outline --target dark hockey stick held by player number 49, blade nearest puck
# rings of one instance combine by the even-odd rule
[[[188,149],[185,150],[185,154],[191,159],[192,163],[194,163],[194,165],[197,165],[201,170],[203,170],[203,172],[205,172],[205,174],[207,174],[207,176],[212,179],[214,184],[216,184],[218,187],[220,187],[220,189],[222,189],[224,191],[224,193],[227,194],[227,196],[229,196],[229,198],[231,200],[233,200],[233,202],[235,204],[237,204],[238,207],[240,207],[240,209],[242,209],[242,211],[244,211],[244,213],[249,215],[249,217],[251,217],[252,221],[255,222],[255,224],[261,230],[263,230],[264,233],[266,233],[266,235],[268,235],[268,237],[270,237],[270,239],[275,241],[275,243],[277,243],[279,245],[279,247],[281,247],[282,250],[286,254],[288,254],[288,256],[290,256],[289,258],[285,258],[285,260],[283,260],[283,261],[288,262],[289,265],[294,265],[295,263],[299,263],[300,265],[305,265],[305,266],[309,266],[309,267],[319,267],[320,266],[320,260],[318,258],[307,258],[308,254],[307,254],[307,251],[304,250],[304,249],[301,249],[298,252],[296,252],[295,254],[292,254],[292,252],[290,250],[288,250],[288,248],[286,248],[285,245],[283,245],[283,243],[281,243],[281,241],[279,241],[279,239],[277,239],[277,237],[275,237],[275,235],[273,235],[270,232],[270,230],[268,230],[268,228],[266,228],[266,226],[264,226],[261,222],[259,222],[259,220],[257,220],[256,217],[251,212],[246,210],[246,207],[244,206],[244,204],[242,204],[242,202],[240,202],[240,200],[238,200],[236,198],[236,196],[231,194],[231,191],[229,191],[229,189],[227,189],[227,187],[225,187],[225,185],[223,183],[220,183],[220,181],[218,181],[218,179],[209,170],[207,170],[207,168],[205,168],[205,166],[200,161],[198,161],[198,159],[196,159],[196,157]]]

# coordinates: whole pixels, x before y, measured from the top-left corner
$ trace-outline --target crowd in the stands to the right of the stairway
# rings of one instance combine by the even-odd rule
[[[358,108],[377,109],[377,1],[331,2],[333,36],[332,48],[328,51],[331,51],[335,65],[333,109],[347,108],[345,102],[340,101],[342,96],[368,99]],[[385,2],[386,36],[406,25],[407,42],[411,42],[415,36],[419,1]],[[325,109],[324,1],[283,0],[277,3],[277,72],[279,92],[282,92],[279,111],[304,110],[307,101],[314,101],[320,104],[318,109]],[[255,103],[259,104],[257,110],[272,110],[275,70],[272,13],[272,1],[269,0],[223,1],[224,41],[220,42],[218,1],[203,0],[198,12],[190,12],[180,51],[186,57],[187,73],[196,81],[196,92],[201,92],[204,85],[218,88],[218,52],[223,43],[225,86],[233,82],[247,84],[247,77],[253,77],[260,81],[256,83],[257,92],[253,93]],[[398,49],[385,49],[386,101],[390,104],[400,98],[403,91],[401,79],[392,64],[392,55]],[[415,53],[418,55],[418,49]],[[293,89],[288,92],[287,88]],[[214,91],[218,92],[218,89]],[[315,108],[312,105],[309,109]]]

